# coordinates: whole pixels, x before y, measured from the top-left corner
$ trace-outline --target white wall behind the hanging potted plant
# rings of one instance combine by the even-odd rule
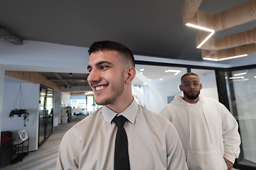
[[[8,76],[6,76],[8,77]],[[28,109],[29,117],[26,122],[26,127],[23,126],[23,117],[14,115],[14,118],[8,118],[11,110],[14,109],[14,104],[18,95],[20,84],[5,79],[4,81],[4,101],[3,114],[1,116],[1,130],[12,131],[13,139],[18,138],[18,132],[26,130],[29,137],[29,150],[38,148],[38,108],[39,108],[39,84],[21,84],[24,106]],[[15,108],[20,108],[20,99],[16,101]],[[21,108],[23,103],[21,102]]]

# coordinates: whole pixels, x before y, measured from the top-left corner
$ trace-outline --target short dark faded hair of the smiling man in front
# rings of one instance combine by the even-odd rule
[[[123,67],[127,66],[127,63],[131,63],[132,67],[135,68],[135,62],[134,62],[134,55],[132,54],[132,51],[129,50],[128,47],[125,45],[122,45],[119,42],[110,41],[110,40],[102,40],[102,41],[96,41],[93,42],[93,44],[90,46],[88,52],[89,55],[92,54],[92,52],[98,52],[98,51],[117,51],[120,55],[122,55],[122,65]]]

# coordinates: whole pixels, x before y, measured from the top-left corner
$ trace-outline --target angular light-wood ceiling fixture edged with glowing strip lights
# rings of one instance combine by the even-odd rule
[[[189,1],[185,1],[183,6],[188,6]],[[200,3],[201,4],[201,3]],[[198,6],[194,6],[198,8]],[[192,8],[191,8],[192,9]],[[191,15],[194,13],[193,18]],[[222,11],[212,15],[205,11],[193,10],[190,11],[190,18],[183,16],[183,24],[186,21],[189,23],[201,26],[203,28],[210,28],[218,32],[234,26],[239,26],[242,23],[247,23],[256,20],[256,0],[247,1],[228,10]],[[184,20],[184,18],[186,20]],[[210,33],[200,30],[195,37],[196,47],[205,40]],[[229,35],[223,38],[209,38],[201,47],[202,57],[210,57],[213,59],[223,59],[225,57],[233,57],[236,55],[249,55],[255,50],[256,43],[256,28],[246,30],[242,33]],[[225,50],[226,49],[226,50]]]

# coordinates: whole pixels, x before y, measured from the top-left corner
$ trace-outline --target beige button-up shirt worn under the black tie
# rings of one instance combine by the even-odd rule
[[[129,162],[132,169],[188,169],[174,125],[134,100],[122,114],[127,118]],[[65,133],[58,152],[57,169],[114,169],[117,115],[99,108]]]

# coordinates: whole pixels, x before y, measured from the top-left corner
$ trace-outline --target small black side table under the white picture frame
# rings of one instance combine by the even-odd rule
[[[24,143],[27,143],[24,146]],[[23,157],[26,157],[26,155],[28,155],[28,147],[29,147],[29,137],[26,140],[14,140],[13,141],[13,145],[14,145],[14,149],[15,149],[15,154],[17,154],[17,156],[14,159],[11,159],[11,164],[12,163],[16,163],[16,162],[22,162],[23,161]],[[21,151],[20,151],[20,147],[21,147]],[[24,147],[27,147],[27,150],[24,152]],[[15,155],[14,155],[15,156]]]

